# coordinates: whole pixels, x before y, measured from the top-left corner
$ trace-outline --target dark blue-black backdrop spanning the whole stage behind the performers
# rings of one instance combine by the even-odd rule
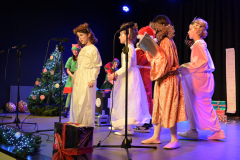
[[[122,6],[130,7],[128,13]],[[190,49],[184,45],[188,25],[195,16],[209,23],[206,38],[208,49],[215,64],[215,93],[213,100],[226,100],[225,49],[235,48],[236,62],[240,60],[240,1],[239,0],[34,0],[0,2],[0,107],[9,101],[10,85],[17,85],[16,50],[11,50],[4,79],[7,49],[15,45],[28,45],[21,49],[21,86],[33,86],[42,71],[47,42],[51,38],[69,38],[64,43],[64,63],[72,55],[71,44],[76,43],[72,30],[79,24],[88,22],[99,42],[103,65],[112,59],[113,35],[123,22],[134,21],[139,28],[159,14],[167,15],[176,30],[174,41],[178,48],[180,64],[189,62]],[[118,35],[119,36],[119,35]],[[117,38],[118,38],[117,36]],[[58,42],[50,43],[49,53]],[[120,59],[122,45],[116,40],[116,57]],[[48,57],[49,58],[49,54]],[[236,81],[240,67],[236,63]],[[98,78],[98,87],[104,81],[103,67]],[[237,84],[237,97],[239,95]],[[237,99],[237,116],[240,116]]]

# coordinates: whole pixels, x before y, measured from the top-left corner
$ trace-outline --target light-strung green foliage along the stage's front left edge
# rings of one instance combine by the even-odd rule
[[[11,126],[0,125],[0,142],[13,145],[13,153],[26,157],[38,151],[42,140],[40,136],[34,136],[32,133],[24,134]]]

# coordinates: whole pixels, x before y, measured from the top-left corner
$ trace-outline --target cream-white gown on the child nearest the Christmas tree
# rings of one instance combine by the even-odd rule
[[[94,45],[81,49],[71,97],[70,121],[84,126],[95,126],[95,100],[97,77],[102,66],[98,49]],[[88,86],[88,82],[93,87]]]

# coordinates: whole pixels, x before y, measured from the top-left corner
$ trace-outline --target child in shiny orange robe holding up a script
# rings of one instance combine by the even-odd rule
[[[142,141],[144,144],[160,144],[161,127],[170,128],[171,142],[165,149],[180,147],[177,138],[177,122],[186,121],[185,103],[182,85],[178,76],[177,48],[173,41],[174,27],[167,16],[159,15],[150,26],[154,29],[158,40],[158,53],[152,57],[147,52],[151,64],[150,78],[155,81],[152,123],[154,134]]]

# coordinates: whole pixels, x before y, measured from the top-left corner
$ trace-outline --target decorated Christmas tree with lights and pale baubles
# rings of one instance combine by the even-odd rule
[[[42,78],[37,78],[32,93],[28,98],[28,110],[38,116],[57,116],[60,109],[60,94],[62,94],[62,106],[66,97],[60,93],[61,77],[61,53],[58,46],[43,66]],[[55,69],[56,68],[56,69]],[[54,73],[55,69],[55,73]],[[67,81],[67,75],[63,70],[62,91]]]

